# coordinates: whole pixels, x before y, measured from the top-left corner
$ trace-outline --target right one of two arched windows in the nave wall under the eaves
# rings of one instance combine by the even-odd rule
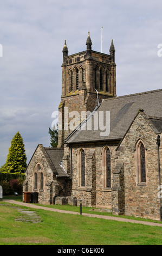
[[[103,187],[111,188],[111,151],[106,146],[102,149]]]

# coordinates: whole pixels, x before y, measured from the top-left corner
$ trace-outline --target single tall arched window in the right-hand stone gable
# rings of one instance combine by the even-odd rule
[[[136,145],[137,183],[146,182],[146,149],[141,140]]]

